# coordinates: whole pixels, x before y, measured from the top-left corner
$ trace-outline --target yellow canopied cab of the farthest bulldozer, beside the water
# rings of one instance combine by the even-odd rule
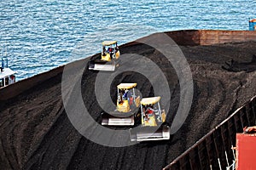
[[[102,42],[102,60],[111,61],[112,59],[119,59],[119,55],[117,41]]]

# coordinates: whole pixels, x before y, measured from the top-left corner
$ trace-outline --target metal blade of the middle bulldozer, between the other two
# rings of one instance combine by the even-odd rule
[[[133,126],[134,116],[118,117],[108,113],[102,113],[102,125],[104,126]]]

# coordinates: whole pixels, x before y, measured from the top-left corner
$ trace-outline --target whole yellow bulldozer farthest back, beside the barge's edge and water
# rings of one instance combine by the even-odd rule
[[[120,51],[117,41],[102,42],[101,59],[90,59],[89,70],[94,71],[114,71],[119,59]]]

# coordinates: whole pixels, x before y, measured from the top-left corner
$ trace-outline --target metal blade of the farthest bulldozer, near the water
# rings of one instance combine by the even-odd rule
[[[89,70],[93,71],[114,71],[115,62],[89,62]]]

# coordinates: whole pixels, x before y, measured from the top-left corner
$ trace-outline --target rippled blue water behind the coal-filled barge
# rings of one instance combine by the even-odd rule
[[[100,52],[103,40],[119,44],[155,31],[248,30],[255,1],[245,0],[2,0],[0,56],[17,80]]]

